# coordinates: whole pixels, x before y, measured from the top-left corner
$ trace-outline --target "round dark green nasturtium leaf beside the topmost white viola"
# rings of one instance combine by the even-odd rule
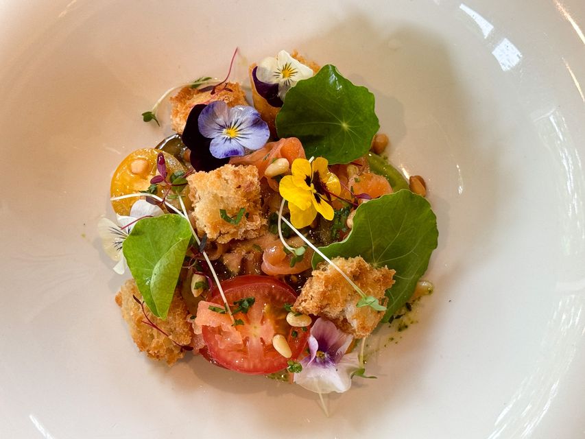
[[[279,137],[297,137],[307,157],[324,157],[330,165],[366,154],[379,128],[374,95],[331,64],[291,88],[276,116]]]

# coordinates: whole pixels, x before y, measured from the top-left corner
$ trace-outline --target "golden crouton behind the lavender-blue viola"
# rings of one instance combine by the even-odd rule
[[[184,87],[179,93],[171,97],[171,128],[182,134],[187,117],[191,109],[197,104],[209,104],[214,101],[224,101],[228,106],[248,105],[246,94],[237,82],[226,82],[219,86],[215,93],[201,91],[198,88]]]

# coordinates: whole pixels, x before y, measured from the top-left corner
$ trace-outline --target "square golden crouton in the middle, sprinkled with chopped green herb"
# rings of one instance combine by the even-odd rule
[[[224,165],[187,177],[195,227],[201,236],[225,244],[266,232],[261,213],[260,179],[255,166]],[[243,212],[238,215],[244,209]]]

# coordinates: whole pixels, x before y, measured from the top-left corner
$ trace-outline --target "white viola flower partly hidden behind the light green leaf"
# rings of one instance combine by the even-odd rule
[[[130,215],[117,215],[118,224],[106,217],[97,222],[97,233],[102,238],[104,251],[112,261],[117,261],[117,264],[114,266],[115,272],[124,274],[126,271],[126,259],[122,252],[122,244],[124,239],[132,232],[134,224],[139,219],[158,217],[159,215],[163,215],[163,213],[160,207],[150,204],[146,200],[138,200],[132,204]]]

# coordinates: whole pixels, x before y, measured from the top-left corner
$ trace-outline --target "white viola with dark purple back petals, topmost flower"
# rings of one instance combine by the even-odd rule
[[[287,91],[294,87],[298,81],[306,80],[311,76],[313,76],[313,70],[298,62],[285,50],[278,52],[276,58],[264,58],[253,71],[253,77],[257,82],[278,86],[277,95],[280,99],[280,105],[277,104],[277,101],[269,99],[274,99],[274,95],[269,97],[264,95],[272,91],[271,88],[263,87],[262,84],[257,84],[257,82],[254,84],[256,85],[256,91],[267,99],[272,106],[282,106],[282,101],[285,100]]]

